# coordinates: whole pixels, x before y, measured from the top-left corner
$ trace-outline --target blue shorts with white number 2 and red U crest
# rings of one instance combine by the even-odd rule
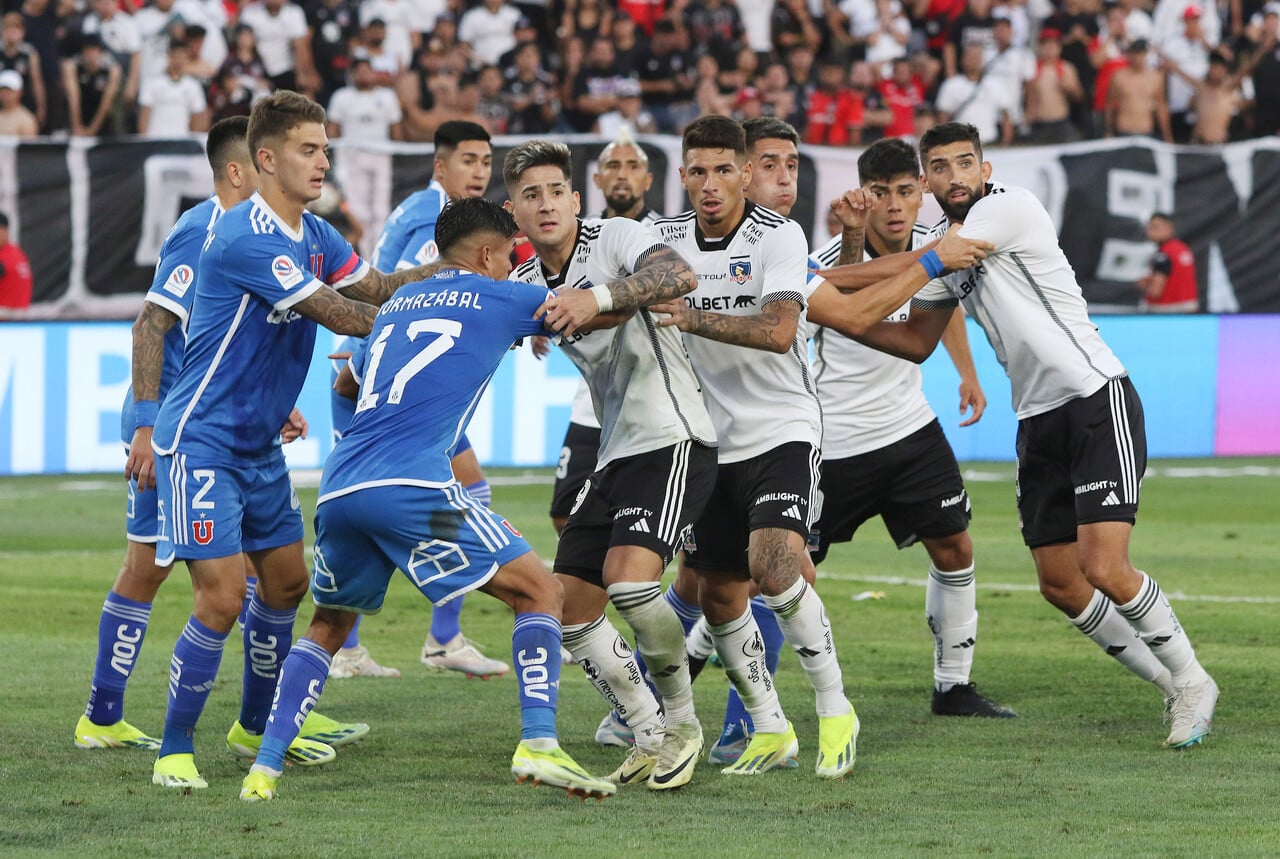
[[[156,563],[224,558],[302,539],[302,510],[284,453],[248,465],[156,454]]]

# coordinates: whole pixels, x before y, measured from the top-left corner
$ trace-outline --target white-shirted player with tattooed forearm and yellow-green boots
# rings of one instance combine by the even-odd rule
[[[721,443],[716,490],[686,544],[686,561],[700,577],[716,650],[756,728],[726,772],[786,766],[799,751],[748,607],[754,581],[817,694],[815,771],[838,778],[854,767],[858,716],[845,696],[822,599],[801,576],[822,437],[799,330],[810,292],[804,230],[744,196],[751,165],[732,119],[692,122],[682,161],[680,175],[694,209],[657,227],[694,266],[698,289],[653,310],[668,314],[663,325],[686,332]],[[760,682],[742,682],[750,676]]]

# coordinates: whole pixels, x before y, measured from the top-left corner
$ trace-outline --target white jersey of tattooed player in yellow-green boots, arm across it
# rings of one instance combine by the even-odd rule
[[[726,316],[754,316],[774,301],[801,309],[795,341],[782,355],[685,337],[719,435],[719,461],[741,462],[787,442],[817,447],[822,408],[804,334],[814,287],[800,224],[748,202],[741,223],[723,238],[704,236],[692,211],[654,227],[698,274],[698,288],[685,296],[689,306]]]

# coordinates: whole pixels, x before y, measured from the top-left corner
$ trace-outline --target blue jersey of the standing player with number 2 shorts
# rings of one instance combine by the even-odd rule
[[[205,243],[187,352],[160,405],[154,447],[195,461],[255,460],[276,442],[311,365],[316,324],[291,310],[324,284],[365,277],[367,262],[323,218],[294,232],[253,195]]]

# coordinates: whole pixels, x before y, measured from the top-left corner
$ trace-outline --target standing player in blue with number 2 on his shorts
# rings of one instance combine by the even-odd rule
[[[259,191],[205,241],[182,370],[155,421],[165,522],[156,557],[187,561],[195,591],[170,662],[152,773],[166,787],[207,786],[196,769],[193,734],[244,597],[242,549],[259,585],[244,621],[241,717],[228,745],[252,757],[266,726],[307,581],[302,513],[275,437],[306,378],[316,323],[367,334],[378,305],[419,274],[374,270],[306,211],[329,169],[324,122],[324,109],[296,92],[255,105],[247,136]],[[340,744],[367,730],[312,718],[303,734]],[[300,763],[333,754],[315,740],[291,749]]]

